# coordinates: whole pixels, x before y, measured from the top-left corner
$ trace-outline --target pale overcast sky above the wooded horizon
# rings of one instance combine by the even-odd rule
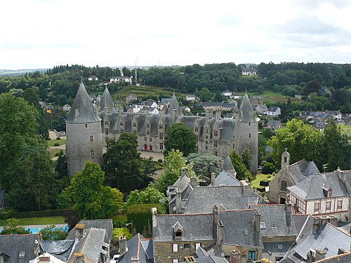
[[[0,0],[0,69],[351,62],[350,0]]]

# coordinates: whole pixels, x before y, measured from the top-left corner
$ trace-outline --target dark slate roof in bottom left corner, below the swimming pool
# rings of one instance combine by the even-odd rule
[[[0,235],[0,252],[4,253],[6,263],[27,263],[37,257],[35,241],[39,241],[39,234]],[[22,252],[24,257],[20,257]]]

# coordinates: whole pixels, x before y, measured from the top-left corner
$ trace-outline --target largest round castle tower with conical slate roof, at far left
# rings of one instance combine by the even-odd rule
[[[69,175],[83,170],[86,161],[102,162],[101,119],[83,82],[66,120],[66,154]]]

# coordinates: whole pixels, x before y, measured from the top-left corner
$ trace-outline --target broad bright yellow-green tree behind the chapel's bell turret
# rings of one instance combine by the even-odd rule
[[[321,165],[322,133],[313,130],[312,126],[303,121],[297,119],[288,121],[286,126],[276,130],[267,144],[273,148],[270,155],[276,166],[280,166],[285,148],[289,151],[290,163],[306,159],[313,160],[319,167]]]

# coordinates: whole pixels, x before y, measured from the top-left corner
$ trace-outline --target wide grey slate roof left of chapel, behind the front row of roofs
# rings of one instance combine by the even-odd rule
[[[261,202],[262,198],[246,187],[233,185],[195,187],[184,204],[184,213],[211,213],[213,205],[217,205],[221,210],[247,209],[249,205]]]

